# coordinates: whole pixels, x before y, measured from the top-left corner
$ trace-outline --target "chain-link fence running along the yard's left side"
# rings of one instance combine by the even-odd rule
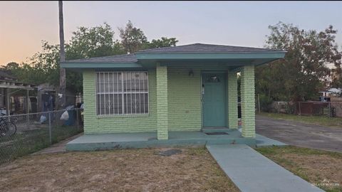
[[[68,110],[67,115],[64,112],[66,110],[0,117],[0,164],[83,132],[81,110]]]

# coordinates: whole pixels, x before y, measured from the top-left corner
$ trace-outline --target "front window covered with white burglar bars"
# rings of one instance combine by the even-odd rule
[[[148,114],[148,73],[96,72],[96,114]]]

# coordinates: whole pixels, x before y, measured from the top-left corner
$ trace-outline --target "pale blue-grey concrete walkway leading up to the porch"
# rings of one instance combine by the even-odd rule
[[[323,191],[244,144],[207,144],[221,169],[243,192]]]

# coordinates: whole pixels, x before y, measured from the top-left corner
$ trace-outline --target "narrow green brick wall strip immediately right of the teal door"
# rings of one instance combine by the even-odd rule
[[[237,129],[237,73],[228,72],[228,124],[229,129]]]

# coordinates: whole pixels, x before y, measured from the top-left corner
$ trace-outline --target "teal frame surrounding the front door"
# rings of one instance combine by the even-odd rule
[[[200,78],[200,93],[201,94],[201,127],[206,128],[203,126],[203,94],[202,94],[202,85],[203,85],[203,75],[204,74],[208,74],[208,73],[219,73],[219,74],[224,74],[224,122],[225,122],[225,126],[227,127],[227,113],[228,113],[228,109],[227,109],[227,99],[228,99],[228,90],[227,90],[227,79],[228,79],[228,72],[226,70],[201,70],[201,78]]]

